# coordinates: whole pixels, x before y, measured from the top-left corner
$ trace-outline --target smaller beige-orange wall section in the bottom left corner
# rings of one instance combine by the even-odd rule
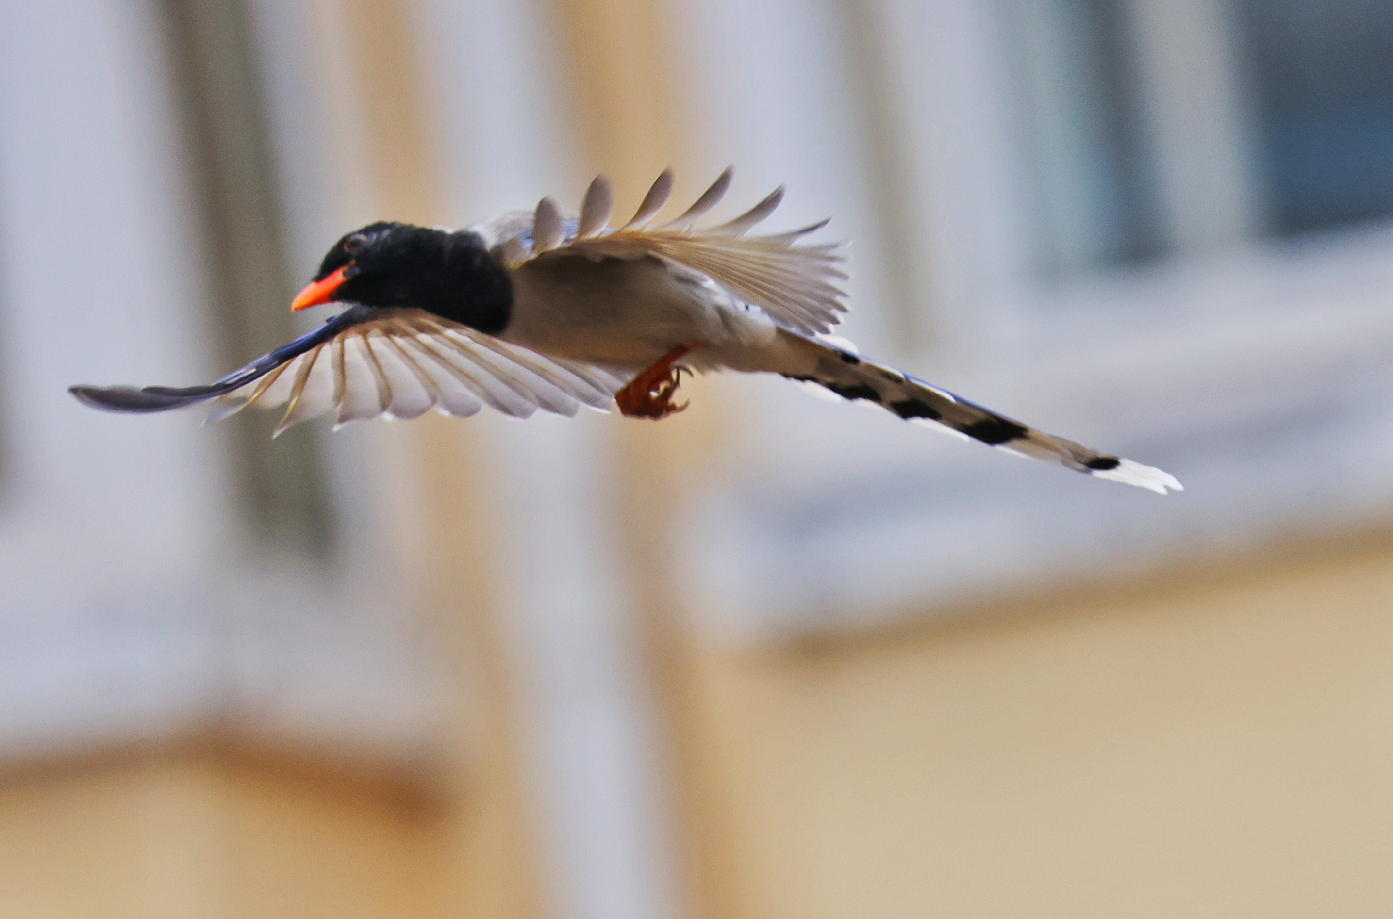
[[[228,753],[8,776],[0,915],[442,915],[440,813],[403,788]]]

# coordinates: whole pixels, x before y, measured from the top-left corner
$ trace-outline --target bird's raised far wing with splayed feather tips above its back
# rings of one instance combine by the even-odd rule
[[[680,217],[652,230],[648,224],[671,196],[670,170],[657,177],[632,220],[617,230],[607,226],[613,210],[609,181],[598,175],[585,192],[579,217],[564,217],[543,198],[535,213],[508,214],[493,234],[510,267],[545,258],[656,256],[706,274],[786,329],[826,333],[847,312],[847,292],[837,287],[848,277],[844,244],[795,245],[826,220],[788,233],[745,235],[783,201],[781,187],[734,220],[694,228],[726,195],[730,177],[727,168]]]

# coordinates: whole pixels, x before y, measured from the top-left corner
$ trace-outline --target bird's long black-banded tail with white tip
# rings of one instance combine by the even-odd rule
[[[997,415],[894,368],[866,361],[853,351],[786,329],[770,349],[768,369],[791,380],[816,383],[841,398],[866,400],[908,422],[933,426],[964,440],[1056,462],[1098,479],[1135,485],[1158,494],[1183,492],[1169,472],[1123,460],[1063,437],[1055,437]]]

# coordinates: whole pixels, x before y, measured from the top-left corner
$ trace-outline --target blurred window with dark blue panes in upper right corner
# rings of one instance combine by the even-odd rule
[[[1393,4],[1169,1],[1021,0],[1004,17],[1048,273],[1393,214]],[[1187,26],[1191,8],[1212,19]],[[1211,170],[1216,131],[1234,155],[1216,148]],[[1216,192],[1251,214],[1188,231]]]

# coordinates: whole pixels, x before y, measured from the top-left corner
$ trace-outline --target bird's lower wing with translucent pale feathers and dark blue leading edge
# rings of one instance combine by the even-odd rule
[[[343,425],[417,418],[432,408],[467,418],[485,405],[515,418],[539,408],[559,415],[574,415],[581,405],[609,411],[624,382],[603,368],[545,358],[425,311],[354,306],[212,386],[71,391],[88,405],[127,412],[217,400],[210,421],[249,405],[284,405],[279,434],[329,412]]]

